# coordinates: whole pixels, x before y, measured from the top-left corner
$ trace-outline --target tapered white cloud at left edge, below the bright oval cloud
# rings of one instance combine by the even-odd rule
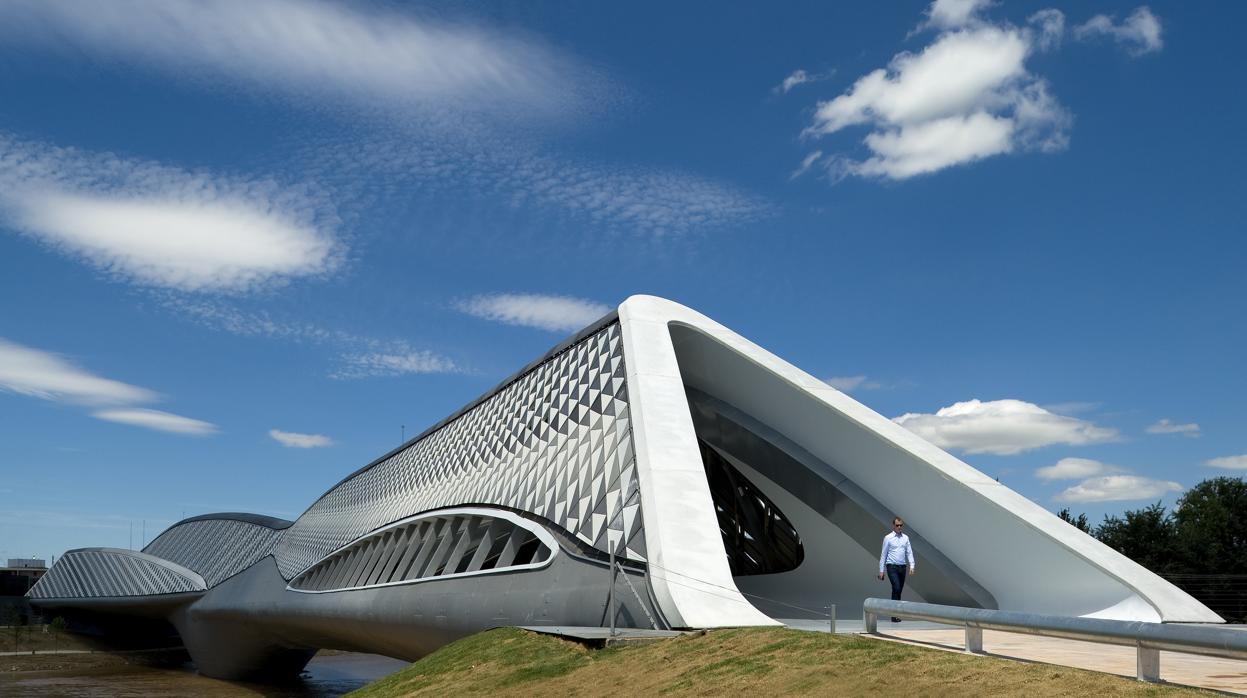
[[[156,393],[101,378],[59,354],[0,338],[0,390],[44,400],[117,405],[156,400]]]

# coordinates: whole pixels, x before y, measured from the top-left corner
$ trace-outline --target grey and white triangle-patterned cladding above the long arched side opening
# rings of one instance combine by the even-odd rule
[[[330,490],[277,546],[286,578],[385,524],[479,504],[544,516],[645,560],[619,323],[524,374],[450,424]]]

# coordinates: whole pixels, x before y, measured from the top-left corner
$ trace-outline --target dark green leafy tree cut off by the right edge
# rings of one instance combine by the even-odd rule
[[[1177,500],[1173,521],[1188,572],[1247,573],[1247,482],[1212,477]]]

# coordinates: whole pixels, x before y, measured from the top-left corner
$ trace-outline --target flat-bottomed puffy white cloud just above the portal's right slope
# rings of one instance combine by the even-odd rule
[[[909,413],[893,421],[943,449],[1015,455],[1055,444],[1081,446],[1117,439],[1115,429],[1052,414],[1023,400],[968,400],[935,414]]]

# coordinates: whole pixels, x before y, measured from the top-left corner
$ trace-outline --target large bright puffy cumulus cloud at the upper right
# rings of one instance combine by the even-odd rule
[[[936,1],[929,26],[940,30],[918,54],[895,55],[887,69],[858,79],[819,102],[803,136],[821,138],[854,126],[870,132],[864,160],[831,157],[837,176],[907,179],[956,165],[1067,146],[1069,112],[1026,59],[1050,47],[1064,29],[1055,10],[1015,27],[978,19],[985,2]],[[1055,12],[1055,14],[1054,14]]]

